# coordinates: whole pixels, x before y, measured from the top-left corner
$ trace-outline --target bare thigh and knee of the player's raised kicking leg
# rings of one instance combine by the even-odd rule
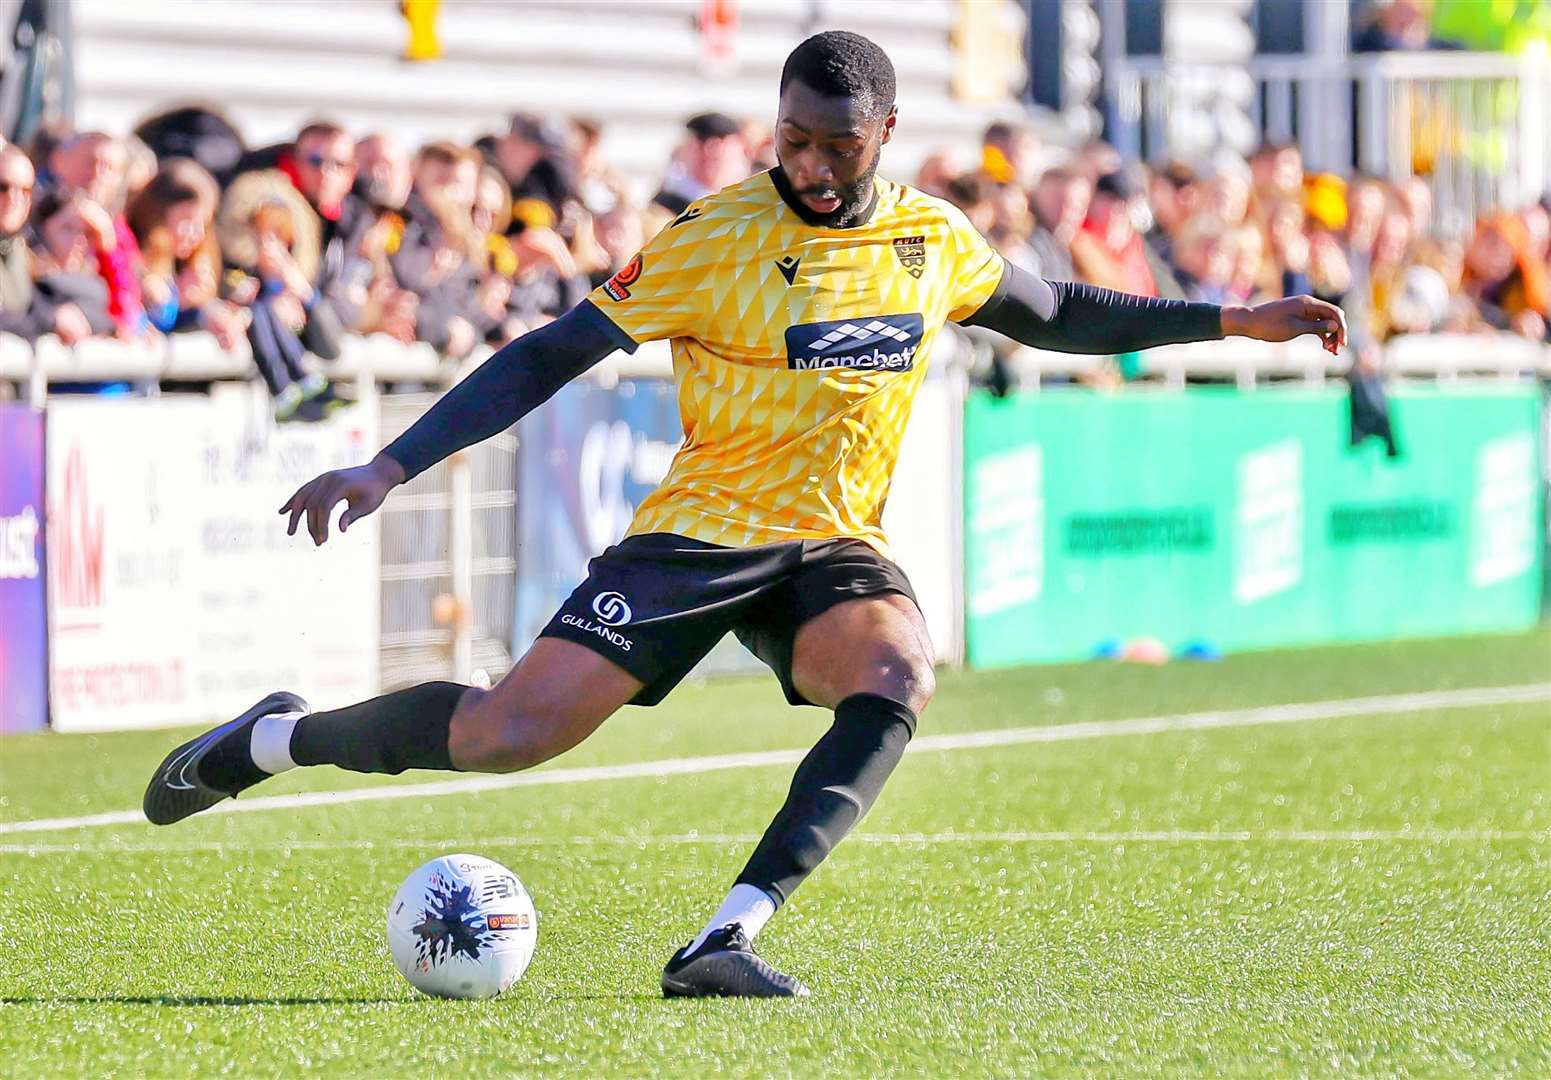
[[[586,646],[540,638],[506,678],[465,697],[453,718],[453,763],[481,771],[538,765],[597,731],[641,687]]]

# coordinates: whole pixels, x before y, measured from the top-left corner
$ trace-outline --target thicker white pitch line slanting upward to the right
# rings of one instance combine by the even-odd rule
[[[1089,720],[1084,723],[1061,723],[1033,728],[1002,728],[993,731],[965,731],[948,736],[920,736],[910,742],[910,753],[949,749],[980,749],[986,746],[1016,746],[1024,743],[1070,742],[1076,739],[1112,739],[1117,736],[1151,736],[1173,731],[1207,731],[1213,728],[1255,728],[1303,720],[1337,720],[1343,717],[1366,717],[1391,712],[1436,712],[1487,704],[1522,704],[1526,701],[1551,701],[1551,683],[1525,683],[1522,686],[1483,686],[1461,691],[1424,691],[1418,694],[1388,694],[1383,697],[1337,698],[1334,701],[1303,701],[1294,704],[1270,704],[1256,709],[1233,709],[1219,712],[1183,712],[1163,717],[1137,717],[1134,720]],[[706,757],[668,757],[655,762],[630,762],[625,765],[589,765],[582,768],[549,768],[537,773],[512,773],[504,776],[472,776],[458,781],[434,781],[430,784],[397,784],[346,791],[304,791],[299,794],[273,794],[257,799],[220,802],[205,813],[259,813],[262,810],[299,810],[306,807],[333,807],[344,802],[378,802],[388,799],[431,799],[444,794],[472,794],[476,791],[504,791],[520,787],[548,787],[551,784],[583,784],[589,781],[627,781],[664,776],[687,776],[693,773],[717,773],[732,768],[762,768],[765,765],[794,765],[808,753],[800,749],[768,749],[751,754],[710,754]],[[99,826],[144,824],[140,810],[110,810],[88,813],[79,818],[39,818],[34,821],[0,822],[0,835],[26,832],[57,832],[64,829],[93,829]]]

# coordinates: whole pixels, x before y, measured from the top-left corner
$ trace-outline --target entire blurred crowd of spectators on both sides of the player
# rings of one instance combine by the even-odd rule
[[[344,400],[326,374],[344,334],[459,360],[554,318],[689,202],[774,164],[768,130],[704,113],[642,199],[600,135],[516,115],[473,144],[411,149],[320,121],[248,147],[202,109],[129,138],[43,130],[0,147],[0,331],[245,340],[276,416],[318,419]],[[1309,292],[1373,341],[1546,338],[1545,200],[1453,241],[1432,228],[1419,178],[1309,174],[1294,146],[1210,169],[1126,164],[1103,143],[1055,152],[1016,124],[993,124],[977,158],[932,155],[915,183],[1047,278],[1213,303]]]

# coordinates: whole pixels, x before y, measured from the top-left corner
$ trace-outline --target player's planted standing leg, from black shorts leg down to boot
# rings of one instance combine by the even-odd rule
[[[870,588],[889,591],[836,596]],[[665,993],[805,993],[754,956],[751,942],[876,801],[931,701],[931,639],[907,590],[893,563],[858,545],[799,577],[797,607],[817,614],[794,635],[783,639],[771,627],[746,638],[782,675],[789,700],[834,709],[834,723],[797,767],[723,905],[668,962]]]

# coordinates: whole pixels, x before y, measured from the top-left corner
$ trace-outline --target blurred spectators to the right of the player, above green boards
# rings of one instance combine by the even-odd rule
[[[982,160],[926,161],[917,183],[957,203],[1010,261],[1047,278],[1148,296],[1255,304],[1312,293],[1366,341],[1508,331],[1548,340],[1551,197],[1433,227],[1432,188],[1304,169],[1297,146],[1126,166],[1103,143],[1024,180],[1024,146],[993,126]],[[1016,143],[1011,143],[1016,144]]]

